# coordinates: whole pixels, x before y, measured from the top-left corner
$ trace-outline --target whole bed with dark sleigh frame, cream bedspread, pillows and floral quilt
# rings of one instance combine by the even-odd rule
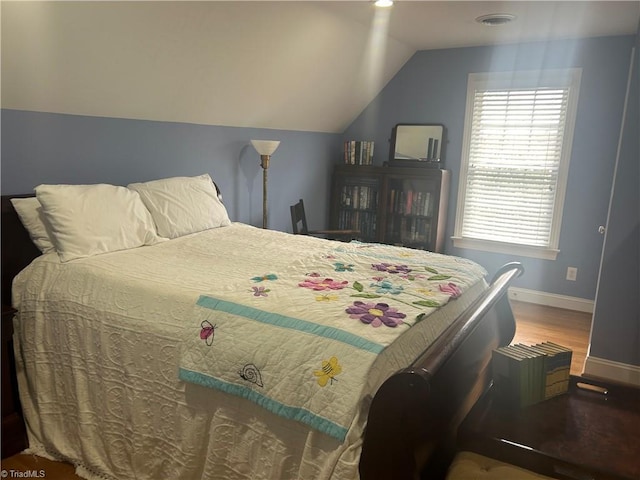
[[[491,350],[513,337],[505,293],[521,265],[487,282],[463,258],[233,223],[208,176],[178,181],[201,182],[206,202],[171,194],[213,202],[198,215],[215,226],[184,211],[163,223],[176,211],[152,200],[173,201],[167,184],[130,185],[118,195],[148,211],[127,210],[138,223],[123,235],[142,243],[119,238],[126,248],[67,238],[42,253],[2,197],[28,451],[88,479],[442,476]],[[91,208],[72,208],[71,226],[51,212],[104,191],[56,203],[60,187],[47,188],[36,192],[54,237],[77,215],[95,221]],[[94,229],[123,221],[120,200]]]

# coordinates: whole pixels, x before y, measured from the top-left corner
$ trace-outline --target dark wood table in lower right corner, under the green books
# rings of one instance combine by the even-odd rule
[[[640,479],[640,389],[571,377],[568,393],[529,407],[499,400],[489,390],[469,412],[461,450],[559,479]]]

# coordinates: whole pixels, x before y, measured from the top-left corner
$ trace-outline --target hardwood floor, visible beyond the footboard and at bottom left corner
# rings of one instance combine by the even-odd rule
[[[591,314],[523,302],[512,302],[511,306],[516,317],[516,335],[512,343],[551,341],[569,347],[573,350],[571,373],[582,373],[589,345]],[[9,472],[8,478],[13,478],[13,470],[19,472],[14,477],[31,471],[43,472],[40,476],[47,480],[81,480],[71,465],[35,455],[20,454],[6,458],[2,460],[2,469]]]

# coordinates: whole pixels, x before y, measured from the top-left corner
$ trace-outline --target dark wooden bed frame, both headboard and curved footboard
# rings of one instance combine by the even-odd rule
[[[28,196],[2,196],[3,305],[11,304],[15,275],[40,255],[10,202]],[[506,292],[522,272],[520,263],[502,267],[428,349],[380,387],[363,440],[362,480],[444,478],[457,427],[491,383],[491,351],[515,333]]]

